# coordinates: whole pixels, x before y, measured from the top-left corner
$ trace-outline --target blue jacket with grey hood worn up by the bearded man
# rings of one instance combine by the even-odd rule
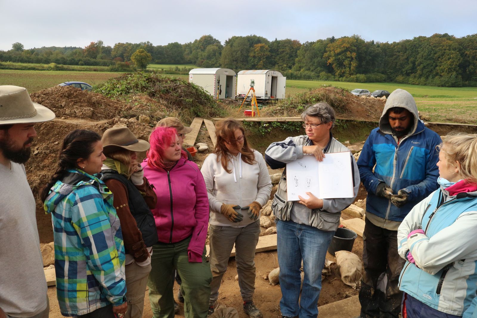
[[[392,134],[387,115],[392,107],[405,108],[414,116],[411,130],[399,144]],[[439,176],[436,146],[441,142],[439,135],[419,120],[411,94],[401,89],[392,92],[384,106],[379,127],[369,134],[357,163],[361,181],[368,191],[366,212],[400,222],[416,202],[436,190]],[[394,194],[403,189],[409,194],[408,202],[397,207],[391,204],[391,200],[377,196],[376,187],[381,182],[393,188]]]

